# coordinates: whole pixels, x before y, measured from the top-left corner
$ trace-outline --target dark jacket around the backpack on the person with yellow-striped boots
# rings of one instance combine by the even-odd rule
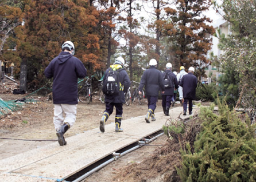
[[[121,66],[121,65],[120,65]],[[103,82],[106,80],[107,73],[111,70],[112,68],[108,68],[106,70],[106,73],[104,74],[103,77]],[[125,93],[130,87],[130,79],[129,76],[126,72],[125,69],[119,68],[119,81],[121,85],[123,85],[123,90],[119,90],[119,96],[105,96],[105,102],[113,102],[113,103],[125,103]]]

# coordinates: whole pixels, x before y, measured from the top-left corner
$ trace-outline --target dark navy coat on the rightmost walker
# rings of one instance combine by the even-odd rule
[[[196,99],[197,78],[193,73],[185,74],[181,78],[180,86],[183,87],[183,98]]]

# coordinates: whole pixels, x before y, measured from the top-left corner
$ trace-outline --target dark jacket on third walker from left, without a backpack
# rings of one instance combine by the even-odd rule
[[[146,69],[141,77],[141,83],[139,84],[139,91],[142,91],[145,86],[146,95],[158,97],[159,90],[164,91],[164,78],[160,70],[155,66],[150,66]]]

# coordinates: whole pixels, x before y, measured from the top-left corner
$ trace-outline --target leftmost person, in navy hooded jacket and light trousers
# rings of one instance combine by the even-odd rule
[[[64,133],[76,121],[78,104],[77,78],[86,77],[87,70],[82,61],[74,57],[75,46],[66,41],[61,46],[62,52],[45,68],[46,78],[53,78],[52,96],[55,106],[53,123],[57,131],[60,146],[66,145]],[[65,113],[65,118],[63,114]]]

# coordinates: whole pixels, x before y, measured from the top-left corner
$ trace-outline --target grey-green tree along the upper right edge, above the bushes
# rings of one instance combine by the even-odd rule
[[[228,90],[234,96],[232,104],[237,101],[236,107],[245,108],[251,121],[256,122],[256,1],[224,0],[220,5],[215,3],[215,8],[230,23],[232,32],[227,36],[218,34],[223,50],[218,58],[224,72],[223,87],[232,89]]]

